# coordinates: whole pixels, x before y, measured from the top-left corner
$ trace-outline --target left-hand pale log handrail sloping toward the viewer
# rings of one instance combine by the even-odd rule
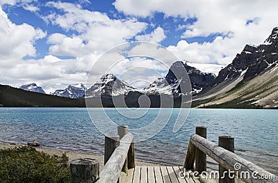
[[[131,133],[127,133],[122,137],[120,145],[114,150],[106,165],[101,170],[97,183],[117,182],[132,142],[133,135]]]

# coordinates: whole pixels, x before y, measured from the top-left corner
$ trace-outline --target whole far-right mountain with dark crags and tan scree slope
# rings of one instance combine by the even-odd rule
[[[245,45],[195,100],[213,107],[278,108],[278,27],[262,45]],[[254,106],[256,105],[256,106]]]

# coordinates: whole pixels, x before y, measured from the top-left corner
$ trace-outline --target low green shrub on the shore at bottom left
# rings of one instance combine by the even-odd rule
[[[67,161],[28,146],[0,150],[0,182],[70,182]]]

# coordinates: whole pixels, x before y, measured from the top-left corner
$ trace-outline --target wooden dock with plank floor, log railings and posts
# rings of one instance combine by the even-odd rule
[[[206,127],[196,127],[183,166],[136,166],[133,135],[127,126],[117,127],[117,135],[105,136],[104,146],[105,166],[101,172],[95,159],[76,159],[70,164],[71,183],[234,183],[235,176],[227,176],[228,172],[232,172],[231,175],[256,175],[236,177],[243,182],[278,183],[275,175],[234,154],[234,137],[219,136],[218,144],[208,141]],[[218,177],[206,179],[202,176],[208,173],[207,156],[218,162]],[[183,175],[185,169],[186,175]]]

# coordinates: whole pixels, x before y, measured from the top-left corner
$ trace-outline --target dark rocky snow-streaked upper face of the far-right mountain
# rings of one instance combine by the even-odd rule
[[[243,74],[243,80],[250,81],[268,67],[276,65],[278,61],[278,27],[272,30],[270,36],[262,45],[245,45],[243,51],[236,55],[236,58],[220,70],[215,84],[221,83],[227,79],[235,80]]]

